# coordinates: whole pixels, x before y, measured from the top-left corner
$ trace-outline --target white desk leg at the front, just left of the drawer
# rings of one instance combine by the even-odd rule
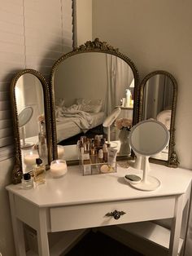
[[[37,227],[37,242],[38,242],[38,254],[39,256],[49,256],[49,241],[46,225],[46,210],[39,210],[39,223]]]

